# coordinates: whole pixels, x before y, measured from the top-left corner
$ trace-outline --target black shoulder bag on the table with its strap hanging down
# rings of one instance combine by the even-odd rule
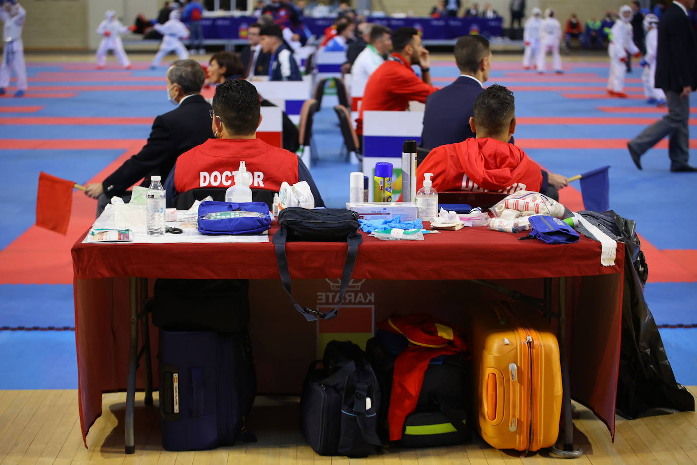
[[[358,256],[358,245],[363,238],[358,232],[360,223],[358,213],[344,208],[320,208],[309,210],[307,208],[284,208],[278,215],[279,230],[273,235],[273,243],[276,247],[276,260],[278,271],[281,275],[283,288],[291,297],[293,307],[302,314],[307,321],[316,319],[330,320],[339,314],[339,307],[344,301],[344,294],[351,281],[351,273]],[[286,241],[310,241],[310,242],[346,242],[346,263],[342,273],[342,286],[339,291],[339,299],[334,310],[323,313],[308,307],[301,307],[291,294],[291,275],[288,270],[286,258]]]

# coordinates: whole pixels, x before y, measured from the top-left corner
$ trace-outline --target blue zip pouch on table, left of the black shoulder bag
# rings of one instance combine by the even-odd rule
[[[264,202],[206,200],[199,205],[201,234],[261,234],[270,227],[271,217]]]

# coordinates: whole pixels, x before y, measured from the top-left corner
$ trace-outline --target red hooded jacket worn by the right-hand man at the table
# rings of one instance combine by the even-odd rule
[[[457,144],[434,148],[416,171],[416,187],[424,184],[424,173],[433,173],[433,188],[491,191],[511,194],[519,190],[539,192],[542,169],[513,144],[474,137]]]

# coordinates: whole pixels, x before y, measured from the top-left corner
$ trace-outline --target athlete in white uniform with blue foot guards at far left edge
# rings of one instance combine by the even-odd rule
[[[10,85],[10,68],[17,75],[17,92],[15,97],[24,96],[26,91],[26,66],[24,66],[24,45],[22,44],[22,27],[26,10],[15,0],[6,0],[0,8],[0,20],[5,23],[3,39],[2,65],[0,66],[0,96]]]

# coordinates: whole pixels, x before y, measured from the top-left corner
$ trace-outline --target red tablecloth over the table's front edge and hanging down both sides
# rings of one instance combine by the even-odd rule
[[[273,235],[275,228],[270,231]],[[615,266],[600,264],[600,244],[548,245],[525,234],[464,228],[424,241],[364,237],[354,278],[370,280],[569,280],[572,396],[614,433],[620,353],[624,246]],[[84,237],[84,236],[83,236]],[[345,243],[288,243],[291,277],[337,278]],[[272,243],[82,244],[72,247],[75,329],[82,432],[101,414],[102,392],[125,390],[128,372],[128,294],[124,277],[279,279]],[[104,279],[116,278],[116,279]],[[405,287],[408,291],[408,287]],[[302,317],[298,316],[302,320]],[[341,318],[339,317],[339,320]],[[337,320],[337,321],[339,321]],[[156,350],[153,352],[157,352]],[[153,354],[154,356],[154,354]],[[156,360],[155,360],[156,362]],[[156,381],[156,380],[155,380]],[[155,382],[156,386],[156,382]],[[142,387],[139,378],[139,387]]]

